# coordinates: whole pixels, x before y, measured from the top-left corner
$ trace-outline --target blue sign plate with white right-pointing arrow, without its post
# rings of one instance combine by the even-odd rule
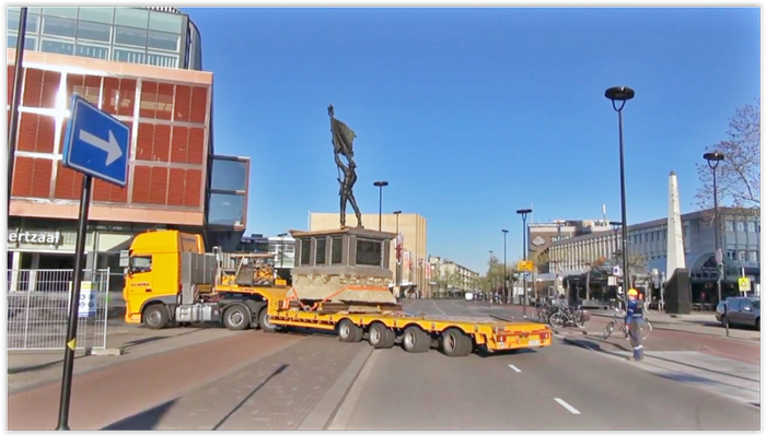
[[[79,95],[72,95],[63,166],[124,187],[128,181],[130,129]]]

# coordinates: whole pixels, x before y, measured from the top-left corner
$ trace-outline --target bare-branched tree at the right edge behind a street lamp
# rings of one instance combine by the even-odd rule
[[[727,139],[708,152],[721,152],[726,160],[717,168],[718,199],[722,207],[741,212],[761,210],[761,98],[740,107],[729,122]],[[707,162],[697,164],[703,186],[697,191],[698,204],[712,208],[712,172]]]

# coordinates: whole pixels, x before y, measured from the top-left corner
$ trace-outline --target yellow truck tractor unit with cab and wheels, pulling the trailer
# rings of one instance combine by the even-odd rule
[[[228,256],[205,254],[200,235],[178,231],[137,235],[124,261],[125,321],[150,329],[193,322],[223,322],[230,330],[257,327],[266,308],[264,290],[220,285]]]

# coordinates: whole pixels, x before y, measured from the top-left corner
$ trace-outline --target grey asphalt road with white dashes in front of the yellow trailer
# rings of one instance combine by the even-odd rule
[[[406,309],[476,315],[449,301],[411,302]],[[375,351],[330,428],[761,428],[759,408],[683,381],[560,340],[491,357]]]

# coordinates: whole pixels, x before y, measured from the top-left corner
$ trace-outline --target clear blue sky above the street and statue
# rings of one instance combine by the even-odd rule
[[[337,211],[326,107],[356,132],[363,212],[428,220],[428,248],[478,271],[534,221],[695,209],[695,164],[761,94],[758,9],[186,9],[214,73],[216,151],[252,158],[247,233]]]

